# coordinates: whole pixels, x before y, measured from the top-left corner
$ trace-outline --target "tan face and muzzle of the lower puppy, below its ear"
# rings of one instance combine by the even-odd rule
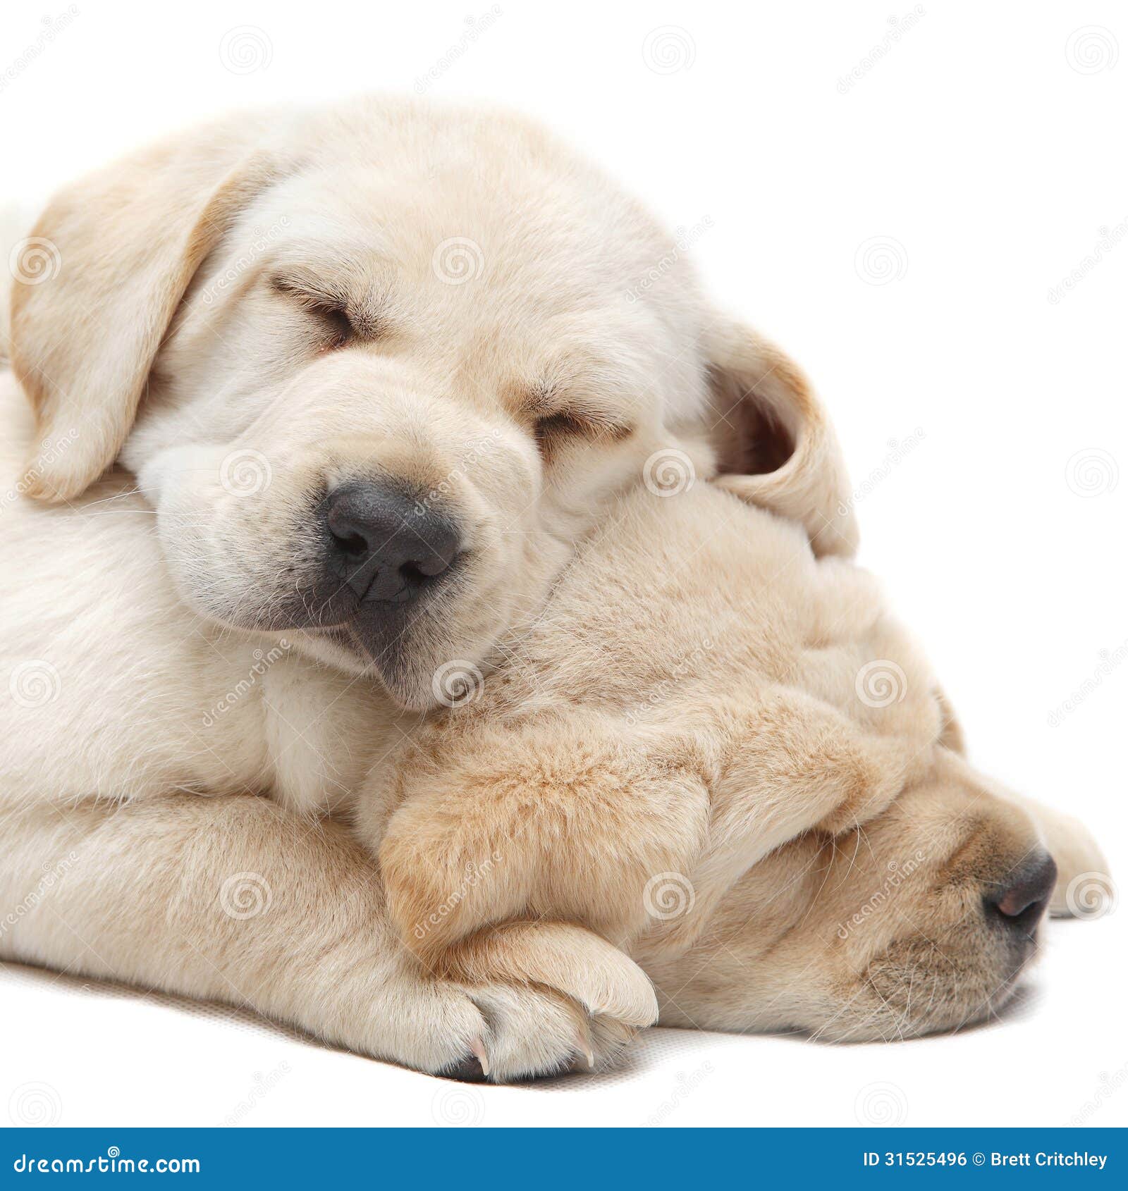
[[[864,825],[754,865],[694,948],[648,971],[671,1024],[827,1041],[955,1029],[1012,998],[1054,879],[1027,813],[939,749]]]

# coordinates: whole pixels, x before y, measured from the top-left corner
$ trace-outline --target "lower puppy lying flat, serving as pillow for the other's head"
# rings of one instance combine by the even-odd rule
[[[23,411],[11,384],[5,401],[2,416],[19,425]],[[14,443],[0,444],[10,475],[18,474],[29,434],[24,426]],[[798,436],[793,457],[811,460],[816,473],[817,453],[808,448],[825,434],[816,424]],[[774,503],[769,493],[789,497],[814,480],[789,464],[781,474],[727,482]],[[8,628],[21,626],[26,636],[5,638],[0,663],[0,690],[8,696],[0,741],[0,956],[247,1005],[326,1041],[424,1071],[461,1073],[485,1059],[490,1078],[513,1079],[577,1060],[586,1066],[588,1054],[596,1064],[611,1062],[634,1023],[652,1010],[647,1002],[640,1015],[637,996],[600,998],[606,943],[597,944],[593,979],[580,969],[586,984],[571,981],[578,965],[591,960],[590,936],[565,940],[567,949],[580,946],[574,956],[567,949],[560,955],[560,971],[591,1009],[611,1012],[590,1012],[571,996],[530,984],[519,939],[510,960],[497,948],[486,956],[510,973],[505,979],[482,980],[478,971],[473,984],[436,978],[401,944],[370,853],[341,819],[312,815],[331,805],[375,840],[382,816],[375,802],[357,807],[355,792],[366,775],[389,765],[401,734],[417,730],[418,717],[285,642],[270,644],[273,638],[198,621],[163,581],[156,537],[137,528],[144,506],[123,494],[127,491],[110,480],[74,509],[13,503],[4,512],[6,528],[19,526],[23,537],[0,567],[0,594]],[[602,754],[594,760],[604,768],[593,769],[600,781],[609,750],[618,748],[616,736],[606,735],[610,724],[622,737],[624,765],[637,762],[648,737],[658,763],[684,760],[683,771],[643,775],[644,790],[666,785],[668,816],[628,834],[636,859],[625,872],[606,855],[606,846],[617,837],[611,824],[624,824],[637,811],[630,790],[603,787],[613,799],[587,842],[599,859],[611,861],[606,878],[585,873],[585,880],[607,890],[607,909],[597,905],[593,921],[628,924],[631,937],[624,941],[655,983],[662,1019],[873,1037],[955,1023],[999,1004],[1026,959],[1022,934],[1029,923],[1002,910],[989,915],[984,896],[1015,888],[1016,874],[1041,840],[1022,811],[987,792],[928,735],[939,731],[942,712],[915,654],[902,657],[902,638],[891,628],[886,651],[902,657],[904,704],[853,706],[856,690],[840,690],[852,636],[822,615],[835,572],[819,570],[823,563],[814,562],[794,526],[749,511],[700,479],[681,495],[640,497],[624,509],[625,523],[607,523],[609,542],[617,544],[588,548],[597,565],[592,585],[585,588],[579,567],[565,579],[560,607],[575,617],[571,634],[550,604],[505,669],[486,676],[488,693],[481,699],[494,700],[497,725],[479,723],[481,700],[466,711],[474,732],[486,730],[484,744],[505,748],[493,760],[505,755],[526,767],[536,760],[515,757],[522,730],[516,709],[505,707],[506,678],[509,690],[531,696],[526,712],[541,707],[546,723],[563,717],[561,735],[573,731],[580,747]],[[700,512],[704,522],[697,520]],[[667,518],[668,541],[629,544],[630,534],[644,535]],[[754,530],[754,540],[746,530]],[[11,535],[5,541],[8,549]],[[44,541],[82,576],[80,592],[62,586],[54,603],[52,593],[30,584],[29,570],[18,565],[44,566]],[[777,574],[780,565],[785,570]],[[786,569],[790,565],[793,569]],[[740,581],[727,579],[730,568]],[[843,579],[852,574],[842,567]],[[802,594],[805,585],[818,596],[814,624],[803,609],[781,606],[787,592]],[[842,593],[856,596],[866,586],[854,575]],[[777,806],[762,803],[762,780],[746,763],[750,753],[730,754],[730,773],[708,791],[691,768],[703,760],[702,744],[718,756],[741,740],[778,761],[778,742],[755,735],[758,705],[747,699],[773,656],[761,636],[768,613],[749,610],[753,598],[767,600],[773,622],[779,617],[771,631],[779,635],[775,665],[785,693],[793,698],[800,682],[811,687],[805,701],[842,734],[822,738],[822,772],[805,767],[821,741],[797,742],[791,771],[779,775]],[[853,603],[842,612],[860,616],[864,624],[871,615]],[[619,618],[617,630],[607,619],[612,613]],[[549,624],[557,628],[549,631]],[[858,634],[858,643],[881,641],[884,648],[880,635],[873,635],[878,622],[871,628],[868,637]],[[804,636],[810,629],[825,634],[825,686],[816,665],[819,638]],[[32,638],[35,632],[40,635]],[[585,647],[588,636],[593,644]],[[21,640],[35,640],[38,655],[13,649]],[[559,656],[562,640],[571,642],[567,665]],[[515,644],[519,641],[518,635]],[[687,641],[692,648],[684,653]],[[842,656],[836,643],[846,650]],[[540,656],[534,644],[549,653]],[[543,686],[524,669],[538,659],[546,665]],[[797,659],[802,669],[789,674]],[[706,698],[703,687],[711,692]],[[574,729],[566,727],[569,692],[578,696],[568,712]],[[885,697],[880,687],[877,694]],[[845,707],[836,705],[843,700]],[[677,729],[671,712],[683,701],[692,715]],[[727,717],[727,707],[739,715]],[[883,729],[900,725],[902,711],[904,730],[910,736],[922,731],[933,757],[927,772],[915,761],[904,766],[896,731],[883,741]],[[434,731],[426,727],[420,740]],[[524,731],[535,735],[535,723]],[[668,752],[679,731],[684,756]],[[561,735],[549,743],[559,744]],[[947,740],[955,743],[951,730]],[[868,794],[892,790],[891,778],[866,761],[886,754],[890,774],[911,771],[917,781],[853,831],[850,807],[865,816],[873,809],[865,805]],[[459,749],[450,763],[453,772],[470,766],[485,774],[487,792],[497,797],[490,760]],[[432,771],[430,762],[425,768]],[[401,759],[388,773],[397,781],[412,777]],[[574,768],[568,777],[575,778]],[[685,790],[688,798],[681,797]],[[569,791],[561,785],[542,793],[551,811]],[[762,833],[748,813],[758,807]],[[1052,850],[1060,842],[1077,872],[1102,867],[1079,828],[1049,823]],[[803,830],[814,824],[822,827]],[[845,830],[830,834],[839,828]],[[756,860],[767,841],[789,833],[789,842]],[[704,856],[703,838],[709,841]],[[521,871],[506,874],[507,841],[500,843],[497,863],[509,883]],[[571,863],[572,841],[561,844],[549,858],[547,880]],[[511,860],[521,859],[522,847],[518,836]],[[1065,881],[1073,869],[1061,868]],[[616,874],[622,887],[613,884]],[[447,910],[450,896],[457,905],[460,891],[473,892],[478,880],[488,887],[490,879],[486,865],[461,874],[449,894],[444,890]],[[581,921],[587,903],[581,890],[573,897],[571,909]],[[679,912],[686,906],[688,913]],[[442,922],[447,910],[426,906],[420,925],[432,912]],[[642,933],[638,911],[647,923]],[[935,946],[923,947],[922,933]],[[413,931],[409,942],[418,949]],[[625,965],[616,960],[612,977],[621,977]],[[617,979],[606,985],[611,992],[617,986]],[[636,987],[632,980],[628,991]],[[918,996],[924,990],[930,994]]]

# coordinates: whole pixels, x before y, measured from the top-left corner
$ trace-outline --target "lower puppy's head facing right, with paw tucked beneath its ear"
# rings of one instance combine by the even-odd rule
[[[709,484],[627,497],[497,671],[384,759],[359,812],[425,971],[544,985],[623,1029],[658,1019],[647,973],[698,972],[686,956],[716,960],[718,931],[747,940],[749,915],[758,949],[779,947],[755,983],[783,990],[799,961],[825,978],[771,1024],[862,1040],[978,1019],[1011,996],[1058,880],[1033,821],[964,759],[873,579]],[[881,853],[908,867],[904,921],[825,930],[887,875],[854,858]],[[808,861],[834,872],[825,904],[791,892]],[[789,935],[811,912],[818,944]],[[747,1029],[748,974],[721,966],[728,984],[713,962],[696,992],[667,980],[663,1019]]]

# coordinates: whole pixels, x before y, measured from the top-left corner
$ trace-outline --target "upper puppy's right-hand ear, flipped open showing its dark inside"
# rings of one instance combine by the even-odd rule
[[[718,487],[798,520],[817,555],[853,555],[858,524],[846,463],[806,378],[750,328],[718,320],[704,342]]]

